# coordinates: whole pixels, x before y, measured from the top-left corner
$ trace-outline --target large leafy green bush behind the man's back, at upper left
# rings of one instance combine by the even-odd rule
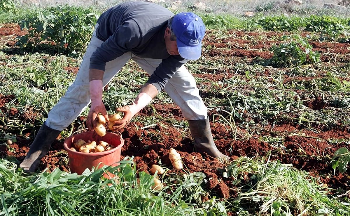
[[[77,55],[85,50],[96,21],[92,8],[65,5],[39,9],[21,21],[21,28],[29,31],[18,44],[24,50],[45,50],[44,46],[48,51],[53,48],[57,53]]]

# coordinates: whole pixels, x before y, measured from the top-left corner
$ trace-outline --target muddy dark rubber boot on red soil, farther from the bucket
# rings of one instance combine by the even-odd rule
[[[195,151],[207,153],[212,157],[222,157],[230,159],[230,157],[222,154],[216,147],[213,136],[211,134],[209,118],[204,120],[188,121],[191,134],[195,140]]]

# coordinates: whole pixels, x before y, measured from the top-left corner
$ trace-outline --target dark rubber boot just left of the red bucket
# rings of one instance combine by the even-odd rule
[[[44,124],[38,131],[34,142],[31,144],[27,156],[24,158],[20,167],[25,172],[35,172],[41,158],[43,158],[50,149],[51,144],[56,140],[61,131],[49,128]]]

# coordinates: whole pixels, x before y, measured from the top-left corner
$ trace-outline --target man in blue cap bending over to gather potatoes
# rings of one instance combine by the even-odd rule
[[[113,122],[114,128],[124,127],[164,89],[188,120],[195,150],[228,159],[214,144],[207,107],[194,77],[184,66],[188,60],[200,58],[204,33],[205,26],[199,16],[193,13],[174,16],[154,3],[129,1],[104,12],[97,21],[74,83],[49,112],[20,167],[34,172],[52,142],[90,101],[86,120],[89,130],[96,126],[97,114],[102,113],[109,120],[102,101],[103,87],[130,59],[151,77],[131,105],[116,110],[124,112],[124,117]]]

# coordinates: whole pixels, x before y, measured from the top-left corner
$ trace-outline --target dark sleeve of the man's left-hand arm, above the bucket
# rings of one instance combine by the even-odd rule
[[[92,53],[90,69],[104,71],[107,62],[137,47],[140,43],[140,37],[140,28],[133,20],[128,20],[119,25],[113,35]]]

